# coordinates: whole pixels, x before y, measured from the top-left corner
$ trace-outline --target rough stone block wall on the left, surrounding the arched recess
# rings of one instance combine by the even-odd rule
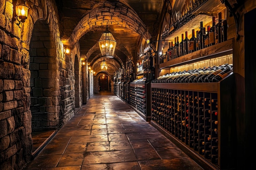
[[[0,169],[22,170],[31,160],[31,91],[29,53],[34,24],[42,20],[49,24],[47,56],[51,64],[42,69],[53,82],[50,97],[41,111],[47,111],[47,125],[59,129],[74,115],[74,55],[63,53],[58,30],[58,13],[54,0],[27,0],[29,16],[20,24],[13,20],[12,0],[0,0]],[[80,61],[80,60],[79,60]],[[46,66],[34,62],[34,66]],[[51,68],[52,70],[50,70]],[[39,69],[40,70],[40,69]],[[53,73],[53,75],[52,75]],[[42,79],[41,79],[42,80]],[[34,87],[44,86],[34,81]],[[49,92],[49,86],[42,93]],[[38,92],[38,91],[37,91]],[[41,94],[41,93],[40,93]],[[39,98],[37,98],[39,99]],[[39,100],[38,100],[39,101]],[[45,104],[45,102],[43,102]],[[40,113],[40,112],[39,112]]]

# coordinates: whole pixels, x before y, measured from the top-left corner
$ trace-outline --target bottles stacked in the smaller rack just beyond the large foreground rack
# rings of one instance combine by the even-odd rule
[[[130,86],[130,105],[146,115],[146,91],[145,87]]]

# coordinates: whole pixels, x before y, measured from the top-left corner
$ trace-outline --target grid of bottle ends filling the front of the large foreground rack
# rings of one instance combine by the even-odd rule
[[[204,159],[217,165],[217,93],[151,89],[151,120]]]

